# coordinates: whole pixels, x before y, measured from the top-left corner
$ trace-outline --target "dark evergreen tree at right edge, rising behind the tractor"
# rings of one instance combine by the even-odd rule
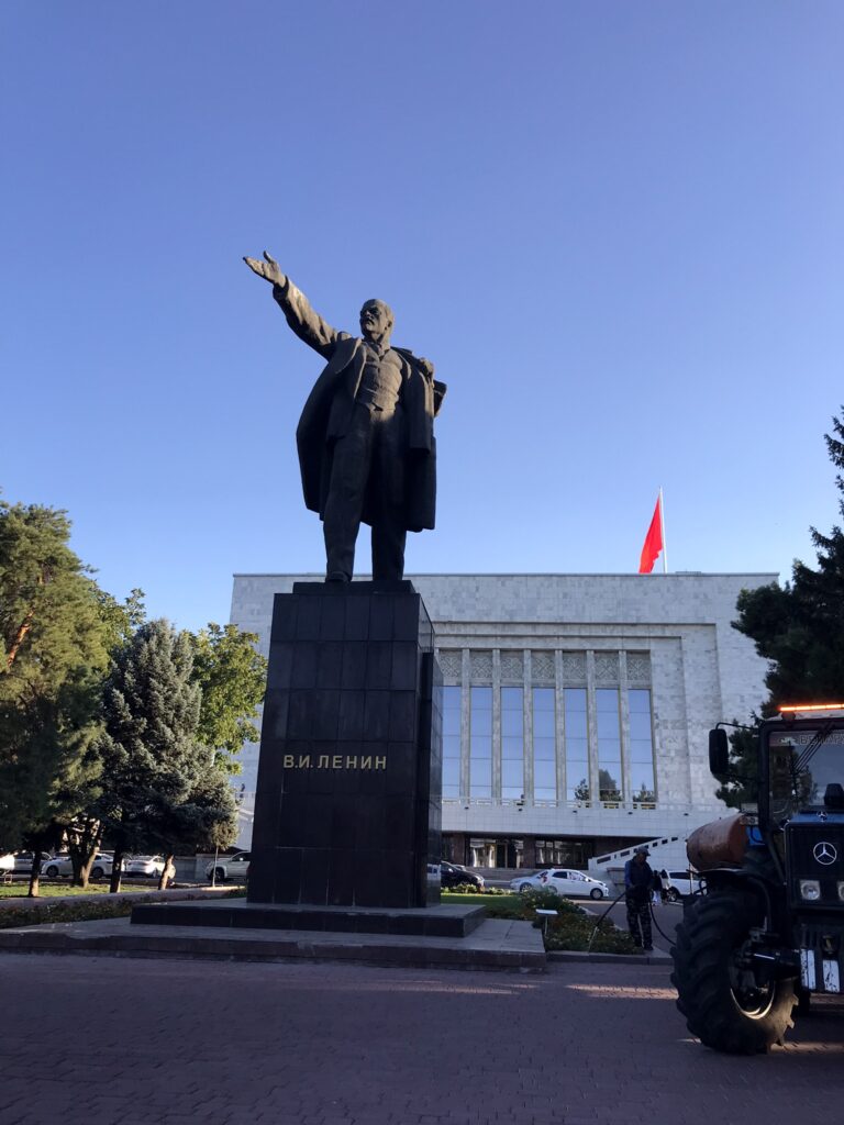
[[[842,412],[842,418],[833,418],[833,433],[825,434],[838,470],[844,470],[844,407]],[[844,516],[842,471],[835,483]],[[844,701],[844,531],[836,525],[824,536],[812,528],[811,538],[817,550],[815,567],[796,560],[791,582],[745,590],[738,597],[734,628],[770,662],[762,718],[775,714],[783,703]],[[718,790],[730,806],[756,800],[756,744],[754,731],[736,729],[730,735],[730,765],[737,776]]]

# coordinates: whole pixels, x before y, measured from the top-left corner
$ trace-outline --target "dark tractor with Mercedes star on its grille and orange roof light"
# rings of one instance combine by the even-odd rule
[[[729,776],[724,724],[709,767]],[[758,728],[757,811],[689,837],[702,891],[684,906],[671,979],[689,1030],[716,1051],[769,1051],[812,993],[841,992],[843,783],[844,704],[780,708]]]

